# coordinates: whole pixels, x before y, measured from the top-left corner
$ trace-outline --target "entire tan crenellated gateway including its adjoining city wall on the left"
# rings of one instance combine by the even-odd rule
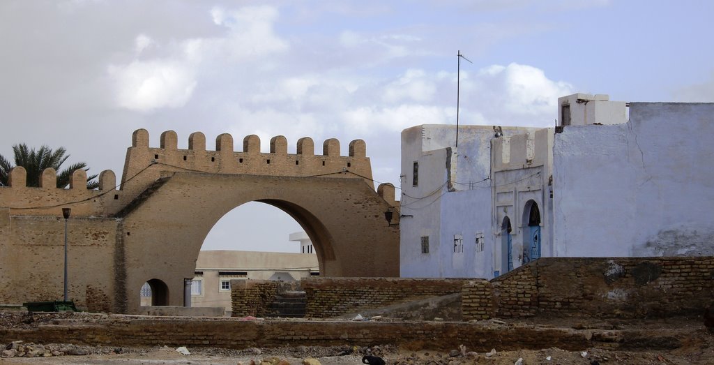
[[[216,138],[215,151],[205,146],[197,132],[189,137],[188,149],[178,149],[176,133],[166,131],[161,147],[151,148],[149,133],[135,131],[119,190],[111,171],[101,174],[99,191],[88,191],[26,188],[24,171],[14,170],[12,185],[0,188],[0,231],[8,228],[5,221],[14,230],[0,238],[0,245],[35,252],[32,236],[41,235],[52,254],[44,265],[2,266],[0,279],[12,284],[27,287],[28,276],[49,280],[42,283],[44,291],[22,298],[18,291],[0,288],[0,301],[51,300],[46,296],[61,294],[61,278],[54,273],[61,272],[63,242],[56,231],[64,206],[72,209],[70,296],[90,310],[134,312],[141,286],[151,280],[165,284],[160,303],[182,306],[184,279],[193,277],[203,239],[221,216],[249,201],[276,206],[301,224],[322,275],[398,276],[398,217],[389,224],[384,214],[396,206],[394,189],[383,185],[379,194],[373,189],[363,141],[352,141],[348,156],[340,156],[336,139],[325,141],[321,155],[314,154],[309,138],[298,141],[297,154],[287,153],[283,136],[271,140],[270,153],[260,152],[258,136],[247,136],[242,152],[233,151],[228,134]],[[51,186],[53,173],[46,171],[42,186]],[[76,171],[72,186],[84,186],[82,179],[84,171]],[[41,266],[41,272],[33,266]]]

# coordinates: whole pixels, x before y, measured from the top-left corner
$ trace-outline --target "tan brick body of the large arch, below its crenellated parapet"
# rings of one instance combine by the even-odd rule
[[[141,287],[151,276],[181,292],[213,224],[249,201],[298,221],[323,275],[398,276],[398,229],[384,219],[386,201],[363,179],[176,172],[124,217],[126,287]],[[138,295],[126,297],[131,311]],[[181,300],[171,297],[169,305]]]

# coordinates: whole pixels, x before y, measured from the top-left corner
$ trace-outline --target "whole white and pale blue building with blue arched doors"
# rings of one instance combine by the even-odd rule
[[[628,109],[629,108],[629,109]],[[629,115],[628,115],[629,111]],[[549,129],[402,132],[401,276],[539,256],[714,255],[714,104],[558,99]]]

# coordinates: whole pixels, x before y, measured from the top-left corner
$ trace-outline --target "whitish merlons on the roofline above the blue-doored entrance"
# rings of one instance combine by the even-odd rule
[[[493,171],[549,164],[552,161],[554,132],[552,128],[544,128],[492,139]]]

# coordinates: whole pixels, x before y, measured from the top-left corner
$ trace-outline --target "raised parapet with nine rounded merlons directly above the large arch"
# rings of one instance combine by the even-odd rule
[[[159,148],[149,146],[149,132],[137,129],[131,137],[126,153],[124,175],[126,182],[150,164],[158,164],[163,171],[196,171],[208,174],[250,174],[270,176],[327,176],[351,178],[363,176],[371,184],[371,163],[366,156],[366,144],[357,139],[349,144],[348,156],[340,155],[340,141],[327,139],[321,155],[315,154],[313,139],[298,139],[296,154],[288,154],[285,136],[270,141],[270,152],[261,152],[261,139],[251,134],[243,138],[243,151],[234,151],[233,136],[216,137],[215,150],[206,150],[206,136],[194,132],[188,136],[188,149],[178,149],[175,131],[161,134]],[[122,188],[124,189],[124,188]]]

